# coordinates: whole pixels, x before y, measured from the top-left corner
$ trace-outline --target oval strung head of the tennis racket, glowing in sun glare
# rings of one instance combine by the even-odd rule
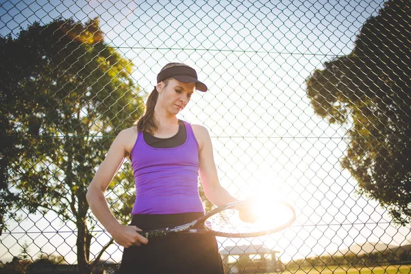
[[[245,220],[240,212],[253,214]],[[245,238],[279,232],[296,219],[295,210],[284,201],[247,200],[229,203],[204,215],[198,223],[214,236]]]

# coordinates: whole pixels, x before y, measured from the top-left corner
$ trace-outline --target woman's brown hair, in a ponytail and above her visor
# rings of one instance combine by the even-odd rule
[[[164,71],[164,69],[169,69],[173,66],[187,66],[186,64],[182,63],[169,63],[166,64],[160,72]],[[162,82],[164,82],[164,87],[169,84],[169,79],[166,78]],[[154,108],[155,104],[157,103],[158,99],[158,91],[156,88],[151,91],[149,98],[147,98],[147,103],[146,103],[146,110],[145,114],[143,114],[134,125],[137,125],[137,130],[139,132],[145,132],[148,134],[155,134],[155,132],[158,130],[158,123],[155,121],[154,118]]]

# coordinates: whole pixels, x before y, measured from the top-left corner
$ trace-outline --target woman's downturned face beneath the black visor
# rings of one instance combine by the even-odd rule
[[[164,82],[158,83],[157,90],[157,105],[171,114],[178,114],[186,108],[187,103],[190,101],[195,90],[195,83],[183,83],[171,78],[167,84],[164,84]]]

